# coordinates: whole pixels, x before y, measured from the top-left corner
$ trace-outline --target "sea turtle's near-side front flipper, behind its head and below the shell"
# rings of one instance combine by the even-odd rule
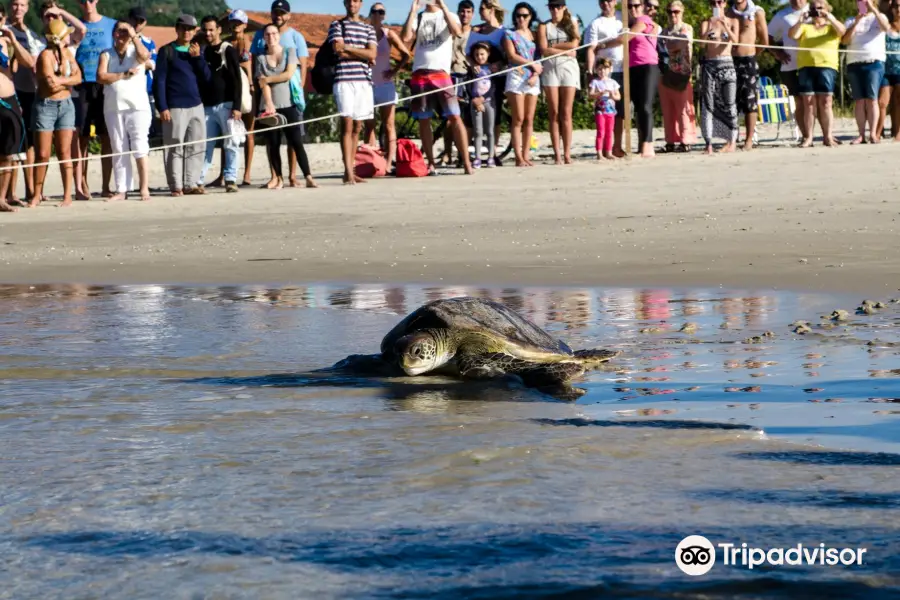
[[[516,358],[502,352],[457,354],[459,374],[468,379],[491,379],[506,374],[518,375],[528,387],[565,383],[584,373],[578,362],[540,363]]]

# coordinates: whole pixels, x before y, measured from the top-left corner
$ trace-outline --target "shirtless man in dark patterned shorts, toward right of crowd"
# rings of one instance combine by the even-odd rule
[[[738,39],[733,50],[734,69],[737,72],[737,109],[739,113],[744,113],[744,124],[747,127],[744,150],[752,150],[756,111],[759,107],[759,65],[756,55],[762,52],[756,44],[769,43],[766,11],[753,4],[753,0],[735,0],[725,16],[737,24]]]

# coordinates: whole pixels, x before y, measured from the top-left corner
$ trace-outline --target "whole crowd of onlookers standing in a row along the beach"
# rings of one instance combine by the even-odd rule
[[[391,168],[403,70],[411,71],[410,115],[419,124],[429,174],[453,162],[454,145],[457,164],[466,173],[500,166],[495,146],[504,102],[511,114],[515,165],[533,165],[531,137],[542,93],[554,160],[570,163],[573,105],[583,82],[595,107],[598,159],[625,155],[626,101],[634,106],[641,156],[657,152],[657,103],[665,131],[662,151],[690,151],[697,142],[698,121],[706,152],[713,151],[716,138],[723,141],[719,151],[734,151],[741,114],[744,149],[750,150],[759,103],[757,57],[764,51],[780,61],[781,82],[795,97],[800,146],[812,145],[816,120],[823,143],[832,146],[839,143],[833,134],[832,99],[841,44],[850,50],[847,74],[859,127],[851,143],[881,139],[891,97],[900,89],[900,0],[889,0],[886,7],[860,0],[858,14],[845,22],[834,17],[827,0],[790,0],[768,22],[753,0],[709,0],[712,16],[700,24],[696,39],[680,0],[666,6],[664,25],[659,23],[659,0],[625,2],[627,30],[615,0],[600,0],[600,15],[581,31],[565,0],[548,1],[545,22],[538,22],[532,5],[519,2],[510,27],[503,25],[506,10],[499,0],[481,0],[478,25],[473,24],[472,0],[460,0],[455,13],[444,0],[413,0],[398,32],[385,25],[384,4],[375,2],[363,17],[362,0],[344,0],[346,15],[331,24],[325,40],[336,57],[332,93],[344,182],[364,181],[354,169],[360,134],[382,146]],[[250,185],[254,138],[245,137],[241,181],[235,140],[259,124],[272,123],[282,127],[265,132],[270,179],[263,187],[285,185],[282,137],[288,144],[288,185],[301,185],[299,166],[305,185],[316,187],[301,122],[309,52],[302,33],[290,25],[287,0],[272,3],[271,23],[252,39],[241,10],[228,15],[225,31],[215,16],[198,23],[182,14],[175,22],[175,41],[162,48],[141,33],[147,24],[144,9],[135,7],[127,19],[116,21],[100,14],[98,0],[83,0],[81,7],[78,18],[56,0],[44,0],[40,34],[25,25],[28,0],[12,0],[9,15],[0,7],[0,210],[33,207],[45,199],[44,163],[52,150],[63,180],[61,205],[73,198],[91,199],[89,163],[80,159],[87,156],[93,134],[103,154],[113,155],[101,161],[103,197],[124,199],[137,187],[141,199],[148,199],[147,157],[156,127],[163,143],[172,145],[164,159],[172,196],[206,193],[216,154],[216,140],[209,138],[220,136],[225,137],[221,174],[210,185],[224,185],[228,193]],[[695,42],[700,42],[699,119],[692,84]],[[582,46],[587,48],[584,65],[576,55]],[[626,51],[630,98],[622,89]],[[542,60],[534,62],[538,58]],[[383,136],[378,135],[376,105]],[[893,135],[900,140],[894,125],[900,122],[900,101],[893,103],[893,111]],[[438,157],[431,126],[435,113],[447,122],[444,153]],[[471,157],[470,142],[475,148]],[[24,175],[24,199],[15,195],[17,165]]]

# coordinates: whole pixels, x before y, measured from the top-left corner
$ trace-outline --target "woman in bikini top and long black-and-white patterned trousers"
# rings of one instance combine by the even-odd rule
[[[710,0],[713,16],[700,23],[705,60],[701,63],[700,131],[706,154],[712,154],[712,138],[725,139],[720,152],[734,152],[737,141],[737,74],[731,56],[738,25],[725,16],[725,0]]]

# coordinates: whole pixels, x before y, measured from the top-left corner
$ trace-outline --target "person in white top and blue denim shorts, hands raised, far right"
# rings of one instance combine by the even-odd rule
[[[859,136],[851,144],[866,143],[866,124],[869,125],[870,143],[876,143],[879,132],[878,91],[884,78],[885,32],[891,28],[888,18],[878,10],[873,0],[858,0],[857,14],[847,19],[847,28],[841,41],[850,52],[847,54],[847,79],[854,100],[854,114]]]

